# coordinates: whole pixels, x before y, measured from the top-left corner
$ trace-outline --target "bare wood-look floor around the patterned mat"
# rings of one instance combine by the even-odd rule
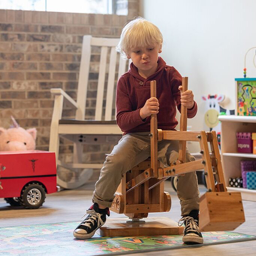
[[[149,216],[167,216],[174,221],[180,219],[180,203],[176,192],[171,187],[170,181],[165,181],[166,191],[171,194],[172,207],[168,213],[151,213]],[[26,210],[20,207],[9,206],[0,198],[0,227],[21,226],[27,224],[40,224],[64,221],[79,221],[84,215],[85,210],[91,206],[91,195],[94,189],[94,183],[91,182],[75,190],[62,190],[61,192],[47,195],[46,201],[40,209]],[[200,185],[200,192],[206,191],[203,185]],[[256,202],[243,201],[246,222],[235,231],[256,235]],[[231,206],[232,207],[232,206]],[[111,217],[123,217],[111,212]],[[72,236],[72,234],[70,234]],[[149,255],[152,253],[138,253],[133,255]],[[210,245],[200,248],[184,248],[176,250],[161,251],[161,255],[189,255],[189,256],[234,256],[234,255],[256,255],[256,241],[237,242],[230,244]]]

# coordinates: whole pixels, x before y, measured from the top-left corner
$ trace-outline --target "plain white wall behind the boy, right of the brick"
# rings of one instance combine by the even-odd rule
[[[204,125],[201,96],[224,94],[224,107],[235,108],[234,78],[243,77],[245,52],[256,46],[256,0],[141,0],[140,15],[159,27],[161,56],[182,76],[198,103],[193,130]],[[247,77],[256,77],[251,50]]]

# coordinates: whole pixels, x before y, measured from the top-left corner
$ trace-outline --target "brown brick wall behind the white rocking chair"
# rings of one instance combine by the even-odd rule
[[[129,0],[128,6],[128,16],[1,9],[0,126],[9,128],[10,116],[14,116],[20,126],[37,128],[37,149],[48,150],[53,110],[50,88],[63,88],[76,99],[82,36],[119,37],[123,25],[138,14],[137,0]],[[88,94],[93,100],[93,68],[90,72]],[[73,115],[64,108],[64,116]],[[87,160],[102,162],[110,147],[87,147],[91,153]],[[61,157],[71,161],[72,150],[71,144],[63,143]]]

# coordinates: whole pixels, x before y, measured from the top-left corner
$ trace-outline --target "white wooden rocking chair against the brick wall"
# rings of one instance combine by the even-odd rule
[[[77,101],[74,101],[61,88],[52,88],[54,94],[54,107],[52,122],[50,126],[49,151],[56,154],[56,165],[70,170],[84,169],[79,172],[79,178],[75,181],[66,182],[57,176],[59,186],[66,189],[74,189],[82,186],[88,180],[92,169],[102,168],[103,163],[82,163],[83,144],[116,143],[122,136],[122,131],[116,124],[113,117],[114,106],[114,83],[116,78],[116,67],[118,64],[118,78],[125,73],[127,61],[119,58],[117,62],[116,45],[119,38],[95,38],[91,35],[84,35],[82,43],[81,64],[79,69]],[[87,98],[89,68],[91,59],[91,46],[101,47],[99,62],[99,78],[97,87],[96,109],[93,120],[85,120],[85,106]],[[110,58],[107,63],[108,49]],[[105,97],[105,116],[103,115],[105,74],[108,68],[107,94]],[[75,119],[62,119],[63,103],[66,101],[76,109]],[[73,142],[73,163],[63,163],[59,160],[59,139],[64,137]]]

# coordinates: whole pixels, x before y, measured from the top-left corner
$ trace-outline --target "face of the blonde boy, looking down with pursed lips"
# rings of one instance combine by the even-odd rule
[[[148,77],[157,69],[158,53],[162,52],[162,45],[153,43],[151,45],[135,47],[127,51],[126,56],[133,61],[139,74]]]

